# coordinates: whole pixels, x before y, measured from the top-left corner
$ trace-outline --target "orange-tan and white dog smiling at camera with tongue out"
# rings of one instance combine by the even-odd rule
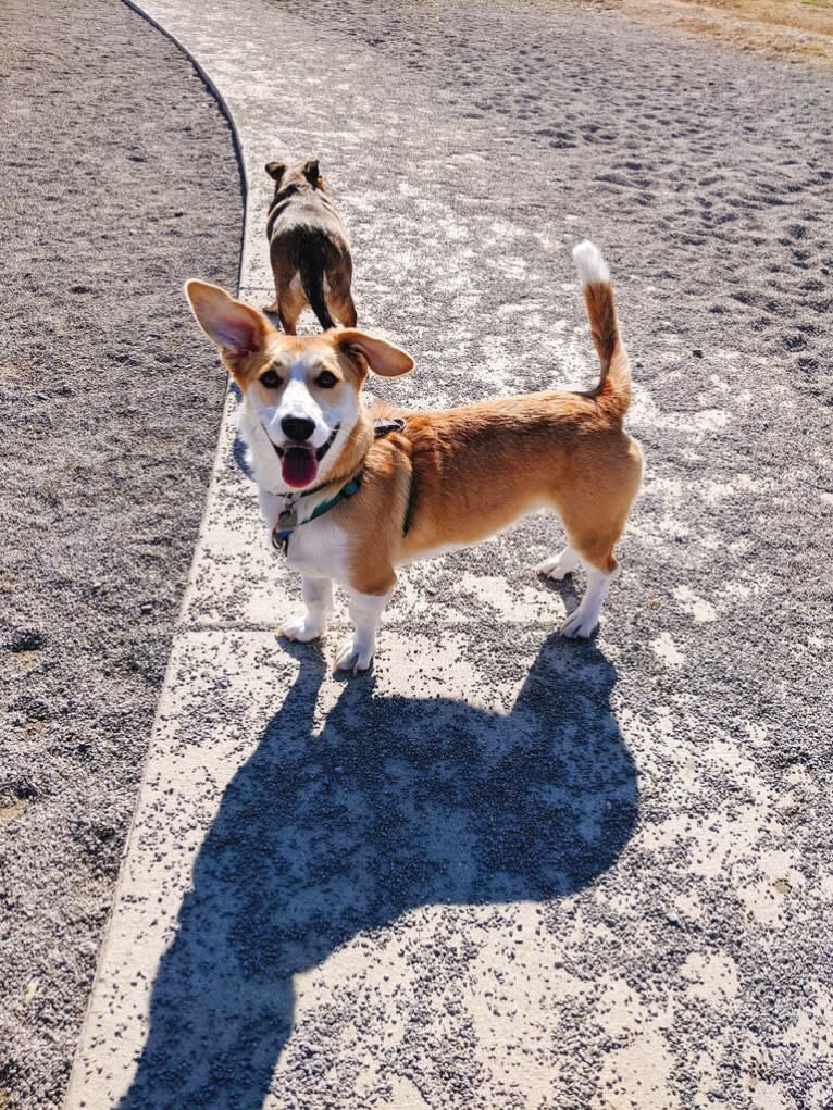
[[[354,329],[282,335],[218,286],[188,282],[194,315],[243,393],[241,431],[267,527],[301,572],[305,612],[283,624],[284,636],[323,635],[339,583],[354,630],[335,666],[367,669],[397,566],[474,544],[541,506],[561,517],[568,546],[536,571],[563,578],[585,565],[586,592],[562,632],[592,633],[642,452],[622,428],[631,374],[608,266],[589,242],[573,258],[601,364],[594,390],[435,412],[383,406],[402,418],[381,438],[361,387],[368,370],[407,374],[409,354]]]

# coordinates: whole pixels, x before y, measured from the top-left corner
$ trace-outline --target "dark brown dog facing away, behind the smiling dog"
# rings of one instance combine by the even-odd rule
[[[305,304],[324,331],[335,326],[333,316],[344,327],[355,327],[350,243],[318,159],[299,165],[269,162],[267,173],[274,180],[267,236],[275,293],[267,312],[278,313],[288,335],[295,334]]]

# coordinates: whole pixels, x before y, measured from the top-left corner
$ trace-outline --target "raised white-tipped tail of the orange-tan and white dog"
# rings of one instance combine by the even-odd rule
[[[573,260],[584,290],[584,304],[601,367],[594,396],[604,412],[621,421],[631,403],[631,366],[619,334],[610,270],[602,252],[588,240],[573,248]]]

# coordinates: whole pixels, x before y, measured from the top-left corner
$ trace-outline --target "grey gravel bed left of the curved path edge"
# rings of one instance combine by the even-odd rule
[[[46,1110],[215,450],[180,286],[233,284],[242,206],[213,98],[117,0],[4,0],[0,102],[0,1107]]]

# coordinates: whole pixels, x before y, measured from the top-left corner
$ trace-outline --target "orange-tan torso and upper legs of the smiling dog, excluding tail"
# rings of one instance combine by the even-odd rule
[[[357,588],[389,589],[393,566],[475,544],[542,505],[555,509],[582,557],[604,574],[615,569],[642,453],[593,397],[538,393],[402,415],[405,431],[370,448],[362,492],[342,509],[351,533],[372,536],[354,546]],[[409,473],[413,506],[402,535]],[[377,579],[388,585],[368,588]]]

